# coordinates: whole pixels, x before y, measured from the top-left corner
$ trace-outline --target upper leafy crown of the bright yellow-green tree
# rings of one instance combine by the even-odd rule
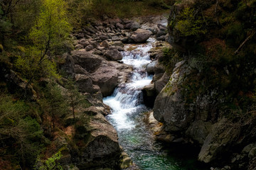
[[[71,26],[63,0],[45,0],[36,25],[31,28],[29,38],[44,54],[54,52],[68,38]]]

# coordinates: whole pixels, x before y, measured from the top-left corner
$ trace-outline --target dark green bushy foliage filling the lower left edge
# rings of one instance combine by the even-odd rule
[[[14,101],[11,96],[1,94],[0,135],[1,142],[8,147],[2,149],[0,154],[14,154],[22,164],[33,164],[43,149],[43,131],[38,122],[29,116],[32,113],[33,110],[23,101]]]

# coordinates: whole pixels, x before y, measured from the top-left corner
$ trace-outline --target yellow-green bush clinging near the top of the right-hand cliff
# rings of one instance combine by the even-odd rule
[[[203,28],[203,18],[196,16],[193,8],[184,8],[177,16],[176,30],[178,30],[182,36],[206,34],[206,29]]]

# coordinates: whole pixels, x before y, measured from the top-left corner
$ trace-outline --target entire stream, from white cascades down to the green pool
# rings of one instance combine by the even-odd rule
[[[149,85],[153,78],[146,73],[145,67],[151,62],[148,52],[155,41],[149,38],[145,44],[125,45],[122,62],[132,65],[134,69],[129,82],[119,84],[112,96],[103,99],[112,110],[107,120],[117,130],[119,144],[139,169],[198,169],[194,167],[195,160],[191,157],[177,156],[163,149],[163,145],[154,140],[152,132],[144,123],[144,113],[150,108],[143,104],[142,88]]]

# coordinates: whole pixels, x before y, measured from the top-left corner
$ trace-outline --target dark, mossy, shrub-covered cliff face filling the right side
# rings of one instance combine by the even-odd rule
[[[154,117],[166,132],[198,143],[201,162],[255,167],[248,149],[255,143],[255,6],[180,1],[171,9],[168,41],[183,61],[156,97]]]

